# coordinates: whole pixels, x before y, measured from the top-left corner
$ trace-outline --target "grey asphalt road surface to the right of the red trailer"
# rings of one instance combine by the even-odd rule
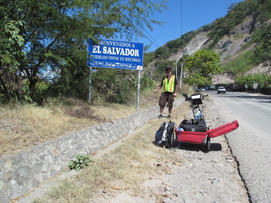
[[[226,138],[251,202],[271,202],[271,96],[205,93],[216,104],[221,120],[239,123],[239,128]]]

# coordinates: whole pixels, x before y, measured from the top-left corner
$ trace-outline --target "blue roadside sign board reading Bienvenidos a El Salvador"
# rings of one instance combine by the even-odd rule
[[[113,39],[89,39],[88,66],[143,70],[143,46],[141,42]]]

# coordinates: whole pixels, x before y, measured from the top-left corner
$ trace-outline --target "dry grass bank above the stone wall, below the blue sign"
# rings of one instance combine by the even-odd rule
[[[188,94],[191,89],[182,85],[181,92]],[[139,110],[158,106],[161,91],[155,94],[151,90],[144,92],[140,96]],[[177,98],[180,97],[179,94]],[[74,99],[61,105],[58,102],[59,98],[48,98],[44,107],[0,106],[0,157],[137,111],[136,103],[130,106],[101,102],[89,104]]]

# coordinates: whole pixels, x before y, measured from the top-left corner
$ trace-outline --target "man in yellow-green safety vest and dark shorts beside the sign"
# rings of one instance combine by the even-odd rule
[[[163,117],[163,111],[166,106],[166,103],[168,107],[167,118],[171,118],[174,97],[177,96],[177,92],[178,92],[178,80],[175,75],[171,75],[172,69],[170,66],[166,67],[166,73],[167,74],[163,78],[161,84],[155,90],[152,90],[152,92],[155,93],[158,90],[160,90],[162,87],[164,87],[163,92],[161,93],[161,96],[159,99],[160,115],[158,116],[158,118]]]

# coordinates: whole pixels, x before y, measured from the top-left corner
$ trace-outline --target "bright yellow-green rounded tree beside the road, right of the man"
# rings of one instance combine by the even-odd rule
[[[220,56],[216,52],[197,51],[194,56],[186,59],[183,81],[189,85],[197,85],[198,88],[203,85],[211,85],[212,76],[222,71],[219,62]]]

